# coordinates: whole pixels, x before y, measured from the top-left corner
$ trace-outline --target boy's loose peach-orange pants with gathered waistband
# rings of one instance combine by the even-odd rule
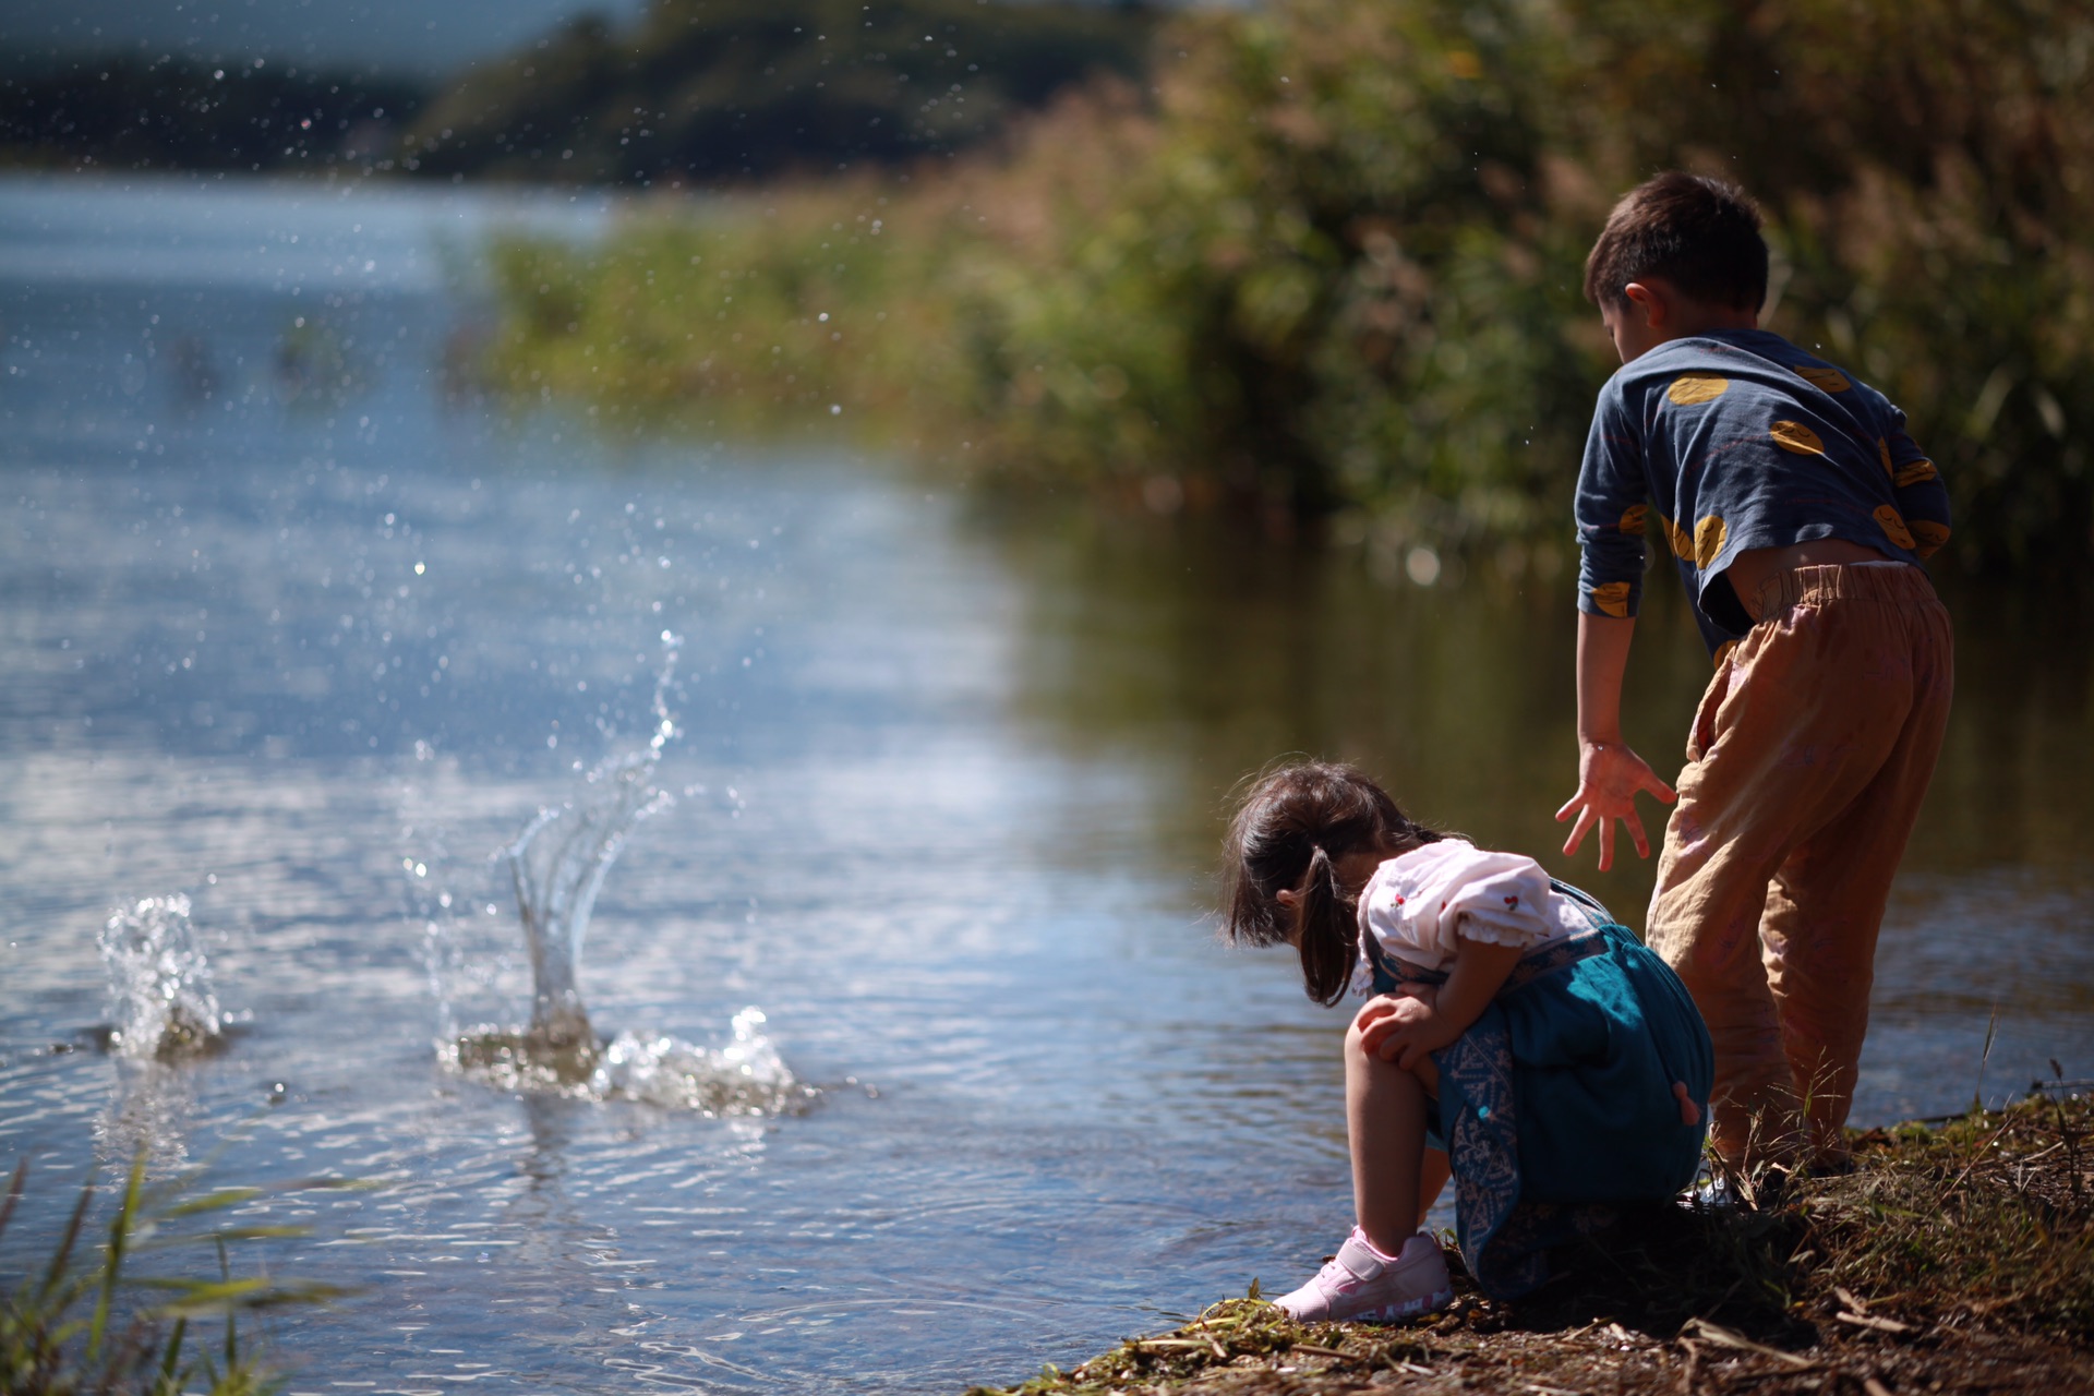
[[[1876,929],[1954,689],[1918,567],[1799,567],[1753,603],[1694,716],[1648,923],[1709,1023],[1732,1164],[1845,1151]]]

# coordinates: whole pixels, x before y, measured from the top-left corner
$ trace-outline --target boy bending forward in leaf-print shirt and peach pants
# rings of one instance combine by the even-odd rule
[[[1759,211],[1663,174],[1585,262],[1623,368],[1577,486],[1579,789],[1564,852],[1673,802],[1648,938],[1715,1042],[1725,1162],[1843,1153],[1876,931],[1941,749],[1954,659],[1920,559],[1947,490],[1876,389],[1759,329]],[[1621,739],[1646,517],[1715,655],[1677,795]]]

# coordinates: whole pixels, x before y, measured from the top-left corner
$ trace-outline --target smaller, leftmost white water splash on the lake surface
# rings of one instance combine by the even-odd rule
[[[174,1061],[224,1046],[226,1015],[211,965],[188,925],[188,898],[149,896],[103,925],[109,971],[109,1051]]]

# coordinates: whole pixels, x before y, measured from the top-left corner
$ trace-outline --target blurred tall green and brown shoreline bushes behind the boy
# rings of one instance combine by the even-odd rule
[[[2090,54],[2088,0],[1194,13],[995,153],[507,247],[488,366],[1518,569],[1566,550],[1612,366],[1583,253],[1688,165],[1763,197],[1772,327],[1910,410],[1956,490],[1943,561],[2065,576],[2094,550]]]

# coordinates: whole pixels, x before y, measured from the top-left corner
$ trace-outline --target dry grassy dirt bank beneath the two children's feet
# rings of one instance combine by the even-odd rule
[[[1849,1174],[1627,1216],[1518,1304],[1455,1285],[1390,1327],[1225,1300],[1009,1394],[2088,1390],[2094,1099],[1874,1130]]]

